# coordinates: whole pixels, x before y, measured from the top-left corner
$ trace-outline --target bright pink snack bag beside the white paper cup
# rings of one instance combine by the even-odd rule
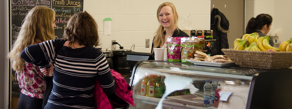
[[[182,37],[168,37],[167,44],[167,60],[169,62],[180,62],[181,50],[180,39]]]

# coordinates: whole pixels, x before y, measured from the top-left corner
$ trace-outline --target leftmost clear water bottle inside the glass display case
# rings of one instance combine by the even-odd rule
[[[213,106],[212,103],[212,85],[210,84],[210,80],[206,80],[204,85],[204,107],[211,107]]]

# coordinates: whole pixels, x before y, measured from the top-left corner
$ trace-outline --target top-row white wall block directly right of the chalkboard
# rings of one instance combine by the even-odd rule
[[[100,0],[85,0],[83,4],[83,10],[87,11],[91,15],[100,13]]]

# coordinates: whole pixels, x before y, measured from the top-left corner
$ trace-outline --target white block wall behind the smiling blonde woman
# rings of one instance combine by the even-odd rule
[[[163,2],[166,0],[84,0],[84,10],[98,24],[103,50],[111,49],[111,40],[116,40],[125,49],[135,44],[133,51],[150,52],[154,33],[159,26],[156,11]],[[210,0],[169,2],[175,5],[178,12],[180,29],[210,29]],[[112,19],[112,32],[111,35],[103,35],[104,18],[108,17]],[[191,25],[185,26],[184,22],[191,22]],[[150,48],[145,48],[145,39],[150,39]]]

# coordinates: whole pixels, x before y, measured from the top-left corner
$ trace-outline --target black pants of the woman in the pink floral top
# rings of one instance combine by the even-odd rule
[[[42,109],[43,99],[29,97],[20,93],[17,109]]]

